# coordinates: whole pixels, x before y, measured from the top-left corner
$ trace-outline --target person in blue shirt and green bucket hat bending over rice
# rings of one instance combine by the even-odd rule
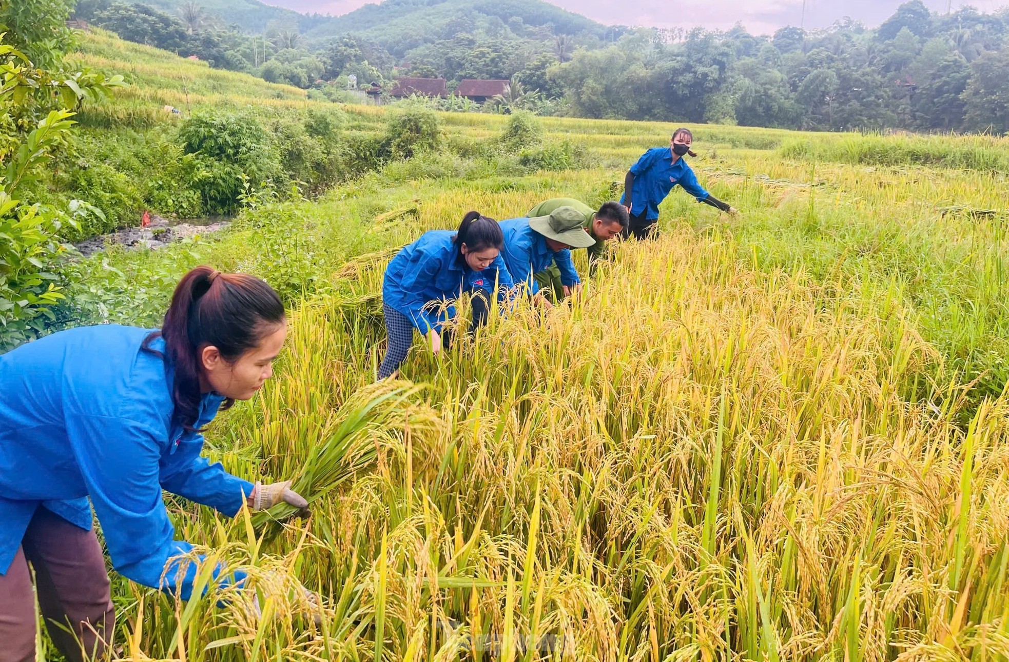
[[[516,284],[525,283],[537,302],[553,304],[540,291],[533,274],[556,265],[565,294],[581,286],[571,262],[572,248],[588,248],[595,240],[585,232],[585,215],[572,207],[558,207],[549,216],[501,221],[504,264]]]

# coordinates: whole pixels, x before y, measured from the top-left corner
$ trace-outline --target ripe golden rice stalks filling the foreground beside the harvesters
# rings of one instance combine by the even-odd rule
[[[191,658],[221,660],[1004,659],[1009,403],[965,427],[957,383],[936,385],[941,407],[909,402],[934,350],[899,301],[737,254],[684,231],[627,246],[569,307],[522,305],[442,360],[418,347],[404,372],[430,384],[414,406],[439,423],[389,420],[373,468],[272,541],[180,512],[232,562],[320,590],[330,634],[298,605],[255,625],[215,593],[180,612],[132,589],[147,618],[131,645],[174,655],[185,638]],[[372,380],[381,336],[339,298],[302,308],[276,380],[212,433],[224,461],[278,476],[310,457],[327,412]]]

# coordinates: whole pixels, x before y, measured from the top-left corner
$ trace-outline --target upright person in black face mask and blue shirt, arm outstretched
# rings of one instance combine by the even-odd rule
[[[693,134],[689,129],[677,129],[669,142],[669,147],[654,147],[645,152],[638,162],[631,166],[624,178],[624,196],[621,204],[631,215],[631,222],[624,231],[624,238],[634,236],[647,239],[659,220],[659,205],[673,186],[680,185],[688,193],[721,212],[737,214],[737,211],[707,192],[697,183],[697,177],[687,165],[684,156],[696,156],[691,150]]]

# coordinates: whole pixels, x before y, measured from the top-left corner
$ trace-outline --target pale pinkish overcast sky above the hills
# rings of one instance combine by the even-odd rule
[[[301,12],[345,14],[367,4],[366,0],[264,0],[267,4]],[[753,33],[770,33],[783,25],[825,27],[851,16],[869,26],[879,25],[893,14],[902,0],[637,0],[624,4],[613,0],[550,0],[552,4],[584,14],[600,23],[727,29],[742,22]],[[945,12],[971,5],[995,11],[1009,0],[924,0],[933,11]]]

